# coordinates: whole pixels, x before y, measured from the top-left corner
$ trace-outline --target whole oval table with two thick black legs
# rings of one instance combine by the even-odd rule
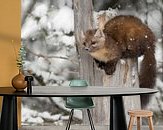
[[[17,126],[17,97],[101,97],[110,98],[110,130],[127,130],[123,106],[123,96],[153,94],[155,89],[118,88],[118,87],[69,87],[69,86],[33,86],[31,94],[16,92],[13,87],[0,87],[3,96],[0,130],[18,130]]]

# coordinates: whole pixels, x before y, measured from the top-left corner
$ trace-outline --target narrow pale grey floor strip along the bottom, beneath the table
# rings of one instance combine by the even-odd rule
[[[108,126],[95,126],[96,130],[108,130]],[[22,126],[19,130],[65,130],[65,126]],[[89,126],[72,125],[71,130],[90,130]],[[137,130],[133,127],[133,130]],[[141,126],[141,130],[149,130],[148,126]],[[163,126],[154,126],[154,130],[163,130]]]

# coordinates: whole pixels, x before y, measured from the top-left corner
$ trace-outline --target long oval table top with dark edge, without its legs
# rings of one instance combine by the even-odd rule
[[[156,89],[129,88],[129,87],[69,87],[69,86],[33,86],[32,94],[27,94],[26,90],[17,92],[13,87],[0,87],[0,96],[19,96],[19,97],[73,97],[73,96],[130,96],[153,94],[158,92]]]

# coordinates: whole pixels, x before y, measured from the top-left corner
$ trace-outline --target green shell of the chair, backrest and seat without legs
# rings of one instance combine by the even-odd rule
[[[86,80],[75,79],[71,80],[70,87],[87,87],[88,83]],[[94,103],[91,97],[67,97],[66,105],[67,108],[91,108],[94,107]]]

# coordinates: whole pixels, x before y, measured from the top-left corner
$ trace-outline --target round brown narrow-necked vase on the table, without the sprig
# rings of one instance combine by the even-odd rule
[[[22,71],[19,70],[19,73],[13,77],[12,86],[16,89],[16,91],[24,91],[27,87],[27,82],[25,81],[25,76]]]

